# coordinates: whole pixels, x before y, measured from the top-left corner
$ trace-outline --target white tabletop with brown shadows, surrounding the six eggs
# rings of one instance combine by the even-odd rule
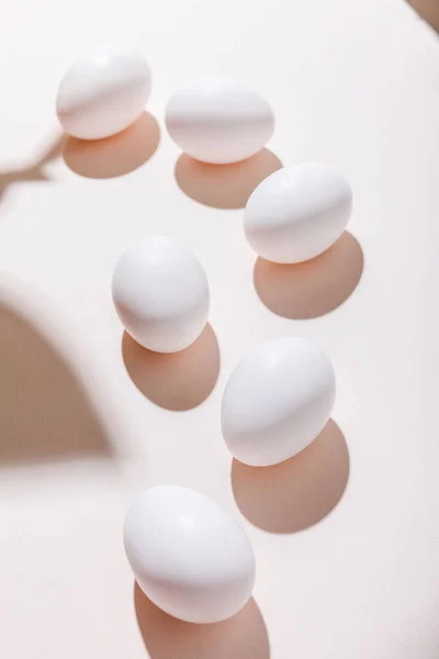
[[[98,43],[148,58],[156,152],[149,115],[101,146],[57,145],[58,81]],[[165,103],[211,72],[271,101],[271,154],[232,172],[183,158],[179,187]],[[0,77],[0,656],[437,659],[437,34],[403,0],[3,0]],[[301,271],[259,263],[260,299],[239,205],[277,158],[346,174],[358,243]],[[200,257],[214,333],[165,362],[125,340],[126,368],[110,279],[146,233]],[[230,480],[222,391],[284,334],[330,355],[339,429]],[[237,618],[200,628],[134,597],[124,512],[157,483],[247,529],[258,574]]]

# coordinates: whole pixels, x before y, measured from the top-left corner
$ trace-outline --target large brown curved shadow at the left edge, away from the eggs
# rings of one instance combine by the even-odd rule
[[[0,463],[111,454],[71,366],[31,321],[0,303]]]

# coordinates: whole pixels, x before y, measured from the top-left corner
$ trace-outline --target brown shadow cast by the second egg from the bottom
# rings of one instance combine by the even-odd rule
[[[295,533],[320,522],[340,501],[349,478],[346,439],[334,421],[302,453],[273,467],[232,463],[232,488],[243,515],[271,533]]]

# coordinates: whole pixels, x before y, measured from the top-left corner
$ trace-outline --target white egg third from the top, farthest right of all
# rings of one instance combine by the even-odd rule
[[[250,196],[244,228],[255,252],[277,264],[318,256],[342,234],[351,212],[346,179],[325,165],[280,169]]]

